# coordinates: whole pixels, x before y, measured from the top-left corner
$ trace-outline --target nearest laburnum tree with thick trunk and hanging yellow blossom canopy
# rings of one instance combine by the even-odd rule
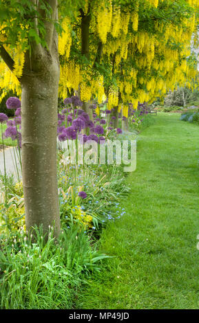
[[[1,1],[1,98],[10,89],[21,96],[27,230],[42,224],[60,232],[58,96],[75,93],[88,113],[107,98],[108,109],[127,118],[129,103],[136,109],[191,84],[198,8],[198,0]]]

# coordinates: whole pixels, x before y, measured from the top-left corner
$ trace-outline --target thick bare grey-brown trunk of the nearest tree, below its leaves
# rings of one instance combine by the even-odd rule
[[[33,69],[34,70],[34,69]],[[60,233],[59,197],[56,175],[56,129],[59,64],[40,62],[39,73],[32,71],[21,81],[22,97],[22,176],[25,225],[43,225],[54,236]]]

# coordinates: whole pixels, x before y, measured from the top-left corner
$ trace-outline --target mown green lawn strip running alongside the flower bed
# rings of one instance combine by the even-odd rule
[[[101,238],[115,258],[79,291],[78,309],[199,309],[199,127],[154,118],[127,178],[127,213]]]

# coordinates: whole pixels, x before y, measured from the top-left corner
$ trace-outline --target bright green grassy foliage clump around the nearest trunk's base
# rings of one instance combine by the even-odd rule
[[[63,230],[56,242],[50,232],[46,243],[41,230],[36,243],[23,232],[1,239],[1,309],[71,309],[84,276],[101,269],[107,256],[78,227]]]

